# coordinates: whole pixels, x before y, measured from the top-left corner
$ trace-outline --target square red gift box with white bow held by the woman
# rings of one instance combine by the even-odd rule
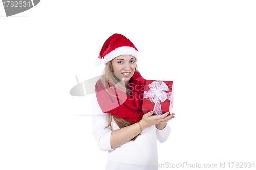
[[[146,80],[142,111],[161,115],[173,111],[173,81]]]

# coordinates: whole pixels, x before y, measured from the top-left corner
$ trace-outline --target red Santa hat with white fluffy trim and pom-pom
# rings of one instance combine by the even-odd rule
[[[104,59],[104,64],[121,55],[131,55],[138,62],[138,50],[134,44],[121,34],[113,34],[110,36],[101,48],[99,57],[94,61],[95,65],[100,65],[101,59]]]

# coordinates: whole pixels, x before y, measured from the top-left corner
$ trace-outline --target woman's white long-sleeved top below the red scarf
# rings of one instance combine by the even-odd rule
[[[103,113],[96,94],[92,95],[93,107],[93,130],[92,133],[101,151],[108,151],[108,163],[106,170],[148,170],[158,169],[157,157],[157,140],[163,143],[170,135],[170,126],[162,130],[151,126],[143,130],[143,133],[134,141],[129,141],[120,145],[117,148],[111,148],[111,133],[114,130],[120,129],[115,121],[112,121],[110,128],[108,126],[109,113]],[[155,165],[155,168],[152,168]]]

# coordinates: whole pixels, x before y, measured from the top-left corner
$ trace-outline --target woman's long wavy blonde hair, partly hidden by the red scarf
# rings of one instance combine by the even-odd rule
[[[136,64],[136,67],[135,67],[135,71],[138,69],[138,66]],[[106,89],[106,91],[110,94],[110,92],[108,91],[108,88],[111,88],[109,86],[109,83],[111,84],[115,84],[117,85],[118,82],[120,82],[120,79],[118,77],[115,76],[114,72],[113,72],[113,68],[112,68],[112,64],[111,64],[111,61],[109,61],[108,63],[106,63],[106,66],[105,66],[105,69],[104,71],[102,72],[102,76],[101,76],[101,82],[104,86],[104,88]],[[130,89],[126,88],[125,86],[115,86],[116,88],[122,90],[123,92],[126,92],[127,95],[130,95],[131,96],[131,91]],[[111,94],[110,94],[111,95]],[[111,95],[113,96],[113,95]],[[116,97],[116,96],[114,96]],[[134,124],[135,122],[131,122],[129,120],[125,120],[123,118],[118,118],[116,117],[114,114],[109,114],[109,120],[108,120],[108,126],[106,126],[105,128],[108,128],[108,127],[111,127],[111,123],[112,123],[112,120],[115,121],[115,123],[118,125],[119,128],[124,128],[126,126],[129,126],[129,125],[132,125]],[[137,135],[139,136],[140,133]],[[133,139],[131,139],[130,141],[134,141],[137,136],[135,136]]]

